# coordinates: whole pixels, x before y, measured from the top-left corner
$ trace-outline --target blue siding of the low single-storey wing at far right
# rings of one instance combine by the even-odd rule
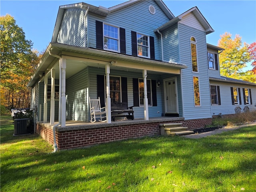
[[[242,85],[235,85],[235,84],[223,84],[223,83],[216,83],[216,82],[211,82],[211,85],[218,85],[220,86],[220,100],[221,100],[221,105],[212,105],[212,115],[218,115],[219,113],[222,113],[223,115],[225,114],[234,114],[235,113],[235,107],[240,106],[243,110],[244,106],[248,106],[250,108],[250,111],[256,110],[256,87],[252,86],[242,86]],[[240,88],[241,92],[241,99],[242,99],[242,104],[238,105],[232,105],[232,99],[231,99],[231,91],[230,87],[237,87]],[[252,104],[247,104],[244,105],[244,98],[243,98],[243,88],[249,88],[251,89],[252,93]],[[238,102],[239,103],[239,102]]]

